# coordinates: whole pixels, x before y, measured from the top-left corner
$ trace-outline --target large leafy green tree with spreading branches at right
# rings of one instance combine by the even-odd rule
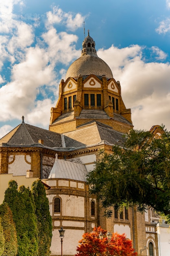
[[[87,180],[109,216],[111,206],[135,204],[139,211],[151,207],[170,220],[170,132],[157,139],[149,131],[131,130],[123,148],[100,152]]]

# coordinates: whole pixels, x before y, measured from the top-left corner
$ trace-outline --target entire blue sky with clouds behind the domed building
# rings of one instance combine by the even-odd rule
[[[170,130],[170,0],[0,2],[0,137],[48,129],[50,108],[87,30],[120,81],[135,128]]]

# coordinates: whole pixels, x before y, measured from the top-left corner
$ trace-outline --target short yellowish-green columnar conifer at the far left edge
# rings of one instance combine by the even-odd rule
[[[4,232],[4,252],[2,256],[17,255],[17,234],[13,221],[12,211],[8,204],[4,202],[0,205],[1,224]]]

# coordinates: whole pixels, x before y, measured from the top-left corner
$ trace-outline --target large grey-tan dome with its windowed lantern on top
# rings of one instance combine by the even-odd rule
[[[110,67],[97,56],[95,42],[93,38],[89,36],[89,32],[82,45],[81,57],[70,65],[65,80],[68,79],[68,77],[77,79],[80,74],[83,77],[94,74],[99,77],[105,75],[107,79],[113,78]]]

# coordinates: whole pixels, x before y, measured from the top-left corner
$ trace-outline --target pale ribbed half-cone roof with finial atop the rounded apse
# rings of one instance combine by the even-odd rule
[[[56,154],[56,160],[48,179],[55,178],[85,181],[86,175],[87,169],[84,164],[58,159]]]

